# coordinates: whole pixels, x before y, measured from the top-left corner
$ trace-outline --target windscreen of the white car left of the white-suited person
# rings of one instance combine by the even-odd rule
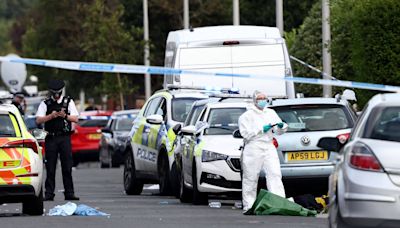
[[[209,128],[205,135],[230,135],[239,128],[239,117],[246,108],[212,108],[208,115]]]

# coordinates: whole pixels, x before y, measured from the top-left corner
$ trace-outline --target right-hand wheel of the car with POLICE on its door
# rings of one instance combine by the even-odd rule
[[[160,195],[171,195],[171,183],[169,180],[169,161],[165,151],[160,152],[158,158],[158,178],[160,184]]]

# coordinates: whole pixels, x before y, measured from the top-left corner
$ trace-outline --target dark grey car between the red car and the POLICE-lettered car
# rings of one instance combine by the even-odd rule
[[[119,167],[123,164],[129,132],[140,109],[114,112],[104,127],[100,139],[101,168]]]

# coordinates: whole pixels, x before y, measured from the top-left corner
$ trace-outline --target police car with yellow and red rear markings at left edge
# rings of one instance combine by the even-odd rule
[[[14,105],[0,105],[0,180],[0,204],[22,202],[22,213],[43,214],[41,147]]]

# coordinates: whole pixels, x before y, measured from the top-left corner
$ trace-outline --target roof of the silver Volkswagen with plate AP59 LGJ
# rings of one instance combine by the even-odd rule
[[[346,105],[346,100],[336,98],[311,97],[311,98],[293,98],[273,100],[271,106],[304,105],[304,104],[336,104]]]

